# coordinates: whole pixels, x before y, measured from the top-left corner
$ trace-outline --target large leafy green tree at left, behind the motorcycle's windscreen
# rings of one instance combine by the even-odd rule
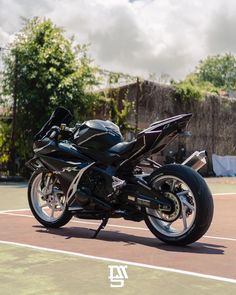
[[[3,95],[16,98],[17,153],[29,156],[33,135],[56,106],[78,119],[92,110],[97,84],[85,45],[67,39],[50,19],[26,20],[9,46],[3,73]]]

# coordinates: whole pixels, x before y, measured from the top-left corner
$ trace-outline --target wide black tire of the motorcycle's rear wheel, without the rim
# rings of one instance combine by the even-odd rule
[[[200,239],[211,224],[214,211],[212,194],[201,175],[183,165],[171,164],[163,166],[150,175],[148,182],[152,186],[154,180],[165,175],[179,178],[191,189],[196,202],[195,220],[187,232],[177,237],[171,237],[158,231],[147,215],[145,216],[146,225],[158,239],[167,244],[179,246],[191,244]]]

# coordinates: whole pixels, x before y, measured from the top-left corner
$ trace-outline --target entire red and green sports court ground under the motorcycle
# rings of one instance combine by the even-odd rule
[[[212,226],[181,248],[161,243],[143,223],[117,219],[96,240],[89,228],[97,221],[46,230],[29,210],[14,211],[28,207],[25,185],[0,186],[0,210],[11,210],[0,214],[1,294],[236,294],[236,185],[209,183],[218,193]],[[122,289],[110,288],[109,264],[128,265]]]

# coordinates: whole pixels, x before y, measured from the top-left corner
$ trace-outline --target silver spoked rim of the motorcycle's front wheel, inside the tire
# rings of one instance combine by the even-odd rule
[[[47,222],[56,222],[66,209],[66,198],[59,184],[50,176],[47,176],[47,187],[42,187],[42,176],[42,173],[37,175],[32,183],[32,206],[39,218]]]

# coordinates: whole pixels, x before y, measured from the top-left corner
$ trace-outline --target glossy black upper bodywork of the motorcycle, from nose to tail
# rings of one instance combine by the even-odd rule
[[[191,114],[182,114],[153,123],[132,142],[124,142],[118,126],[110,121],[90,120],[73,135],[72,142],[44,138],[34,142],[34,152],[67,161],[76,159],[132,169],[140,160],[161,151],[184,130]],[[49,120],[50,121],[50,120]],[[123,169],[122,168],[122,169]]]

